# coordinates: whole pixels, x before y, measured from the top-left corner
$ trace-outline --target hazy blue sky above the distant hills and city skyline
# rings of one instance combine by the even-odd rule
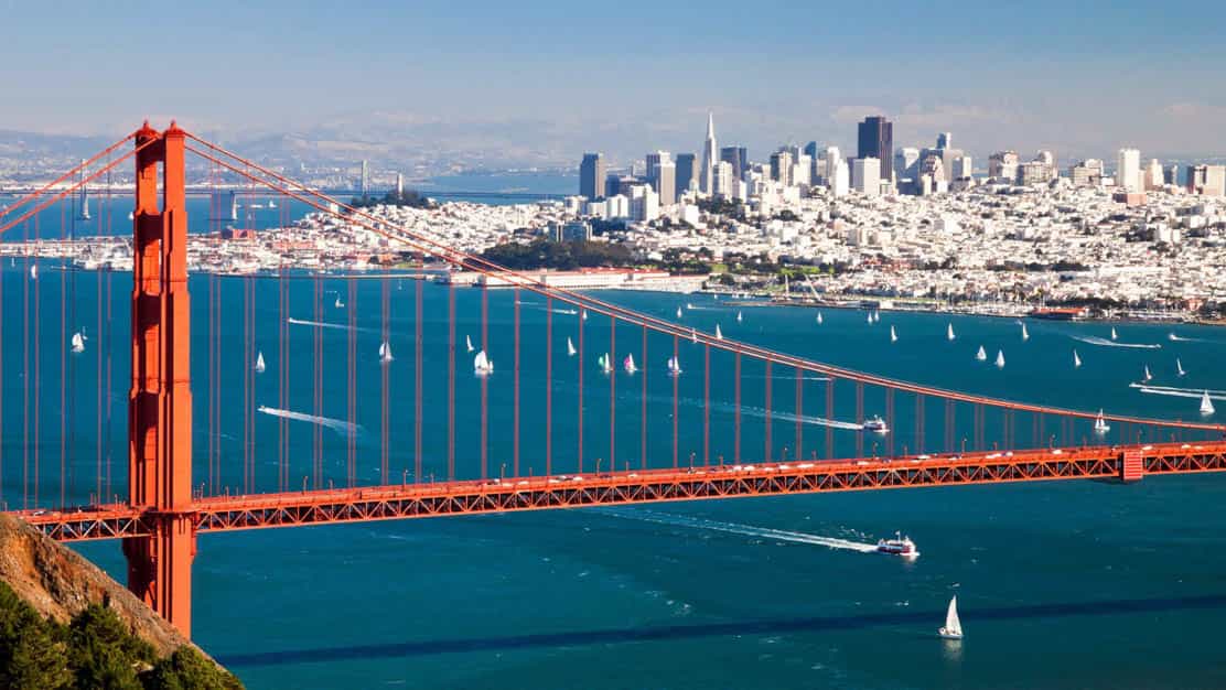
[[[698,148],[712,109],[720,138],[752,154],[848,146],[869,113],[896,121],[897,145],[950,130],[975,153],[1226,152],[1222,2],[0,9],[0,129],[109,134],[170,115],[232,137],[519,126],[527,147],[630,156]]]

